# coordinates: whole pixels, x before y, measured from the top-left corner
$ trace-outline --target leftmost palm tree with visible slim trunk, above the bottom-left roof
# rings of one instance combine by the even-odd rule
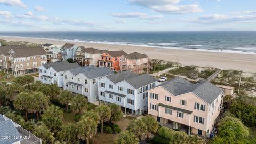
[[[31,94],[27,92],[21,92],[14,100],[14,107],[16,109],[25,110],[26,121],[28,121],[28,110],[30,109]]]

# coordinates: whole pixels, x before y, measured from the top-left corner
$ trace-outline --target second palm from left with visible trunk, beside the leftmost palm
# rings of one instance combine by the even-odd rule
[[[33,113],[36,113],[36,118],[39,120],[39,113],[44,111],[47,106],[50,104],[49,97],[44,95],[42,92],[33,92],[32,93],[31,109]]]

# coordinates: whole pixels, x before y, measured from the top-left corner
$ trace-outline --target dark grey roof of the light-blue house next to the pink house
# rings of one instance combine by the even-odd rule
[[[107,78],[110,79],[110,81],[112,81],[115,84],[125,80],[127,83],[132,85],[135,89],[138,89],[142,86],[145,86],[157,81],[157,79],[155,79],[153,76],[149,74],[137,75],[132,73],[131,71],[123,71],[121,73],[109,75],[107,76]]]

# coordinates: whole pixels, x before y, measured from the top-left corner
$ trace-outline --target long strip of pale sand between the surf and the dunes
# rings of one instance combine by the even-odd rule
[[[177,61],[184,65],[208,66],[219,69],[236,69],[244,72],[256,73],[256,55],[238,54],[238,53],[222,53],[222,52],[205,52],[194,50],[179,49],[162,49],[157,47],[142,47],[131,45],[101,44],[101,43],[85,43],[56,41],[48,39],[33,38],[17,38],[17,37],[0,37],[7,41],[27,41],[31,43],[44,44],[65,44],[75,43],[78,46],[94,47],[97,49],[107,49],[111,51],[124,50],[126,53],[139,52],[147,54],[150,59],[161,59],[166,61]]]

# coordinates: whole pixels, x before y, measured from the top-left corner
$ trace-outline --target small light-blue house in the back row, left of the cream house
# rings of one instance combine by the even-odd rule
[[[60,51],[61,56],[64,61],[67,59],[73,59],[75,53],[76,53],[77,46],[75,44],[66,43],[64,44]]]

